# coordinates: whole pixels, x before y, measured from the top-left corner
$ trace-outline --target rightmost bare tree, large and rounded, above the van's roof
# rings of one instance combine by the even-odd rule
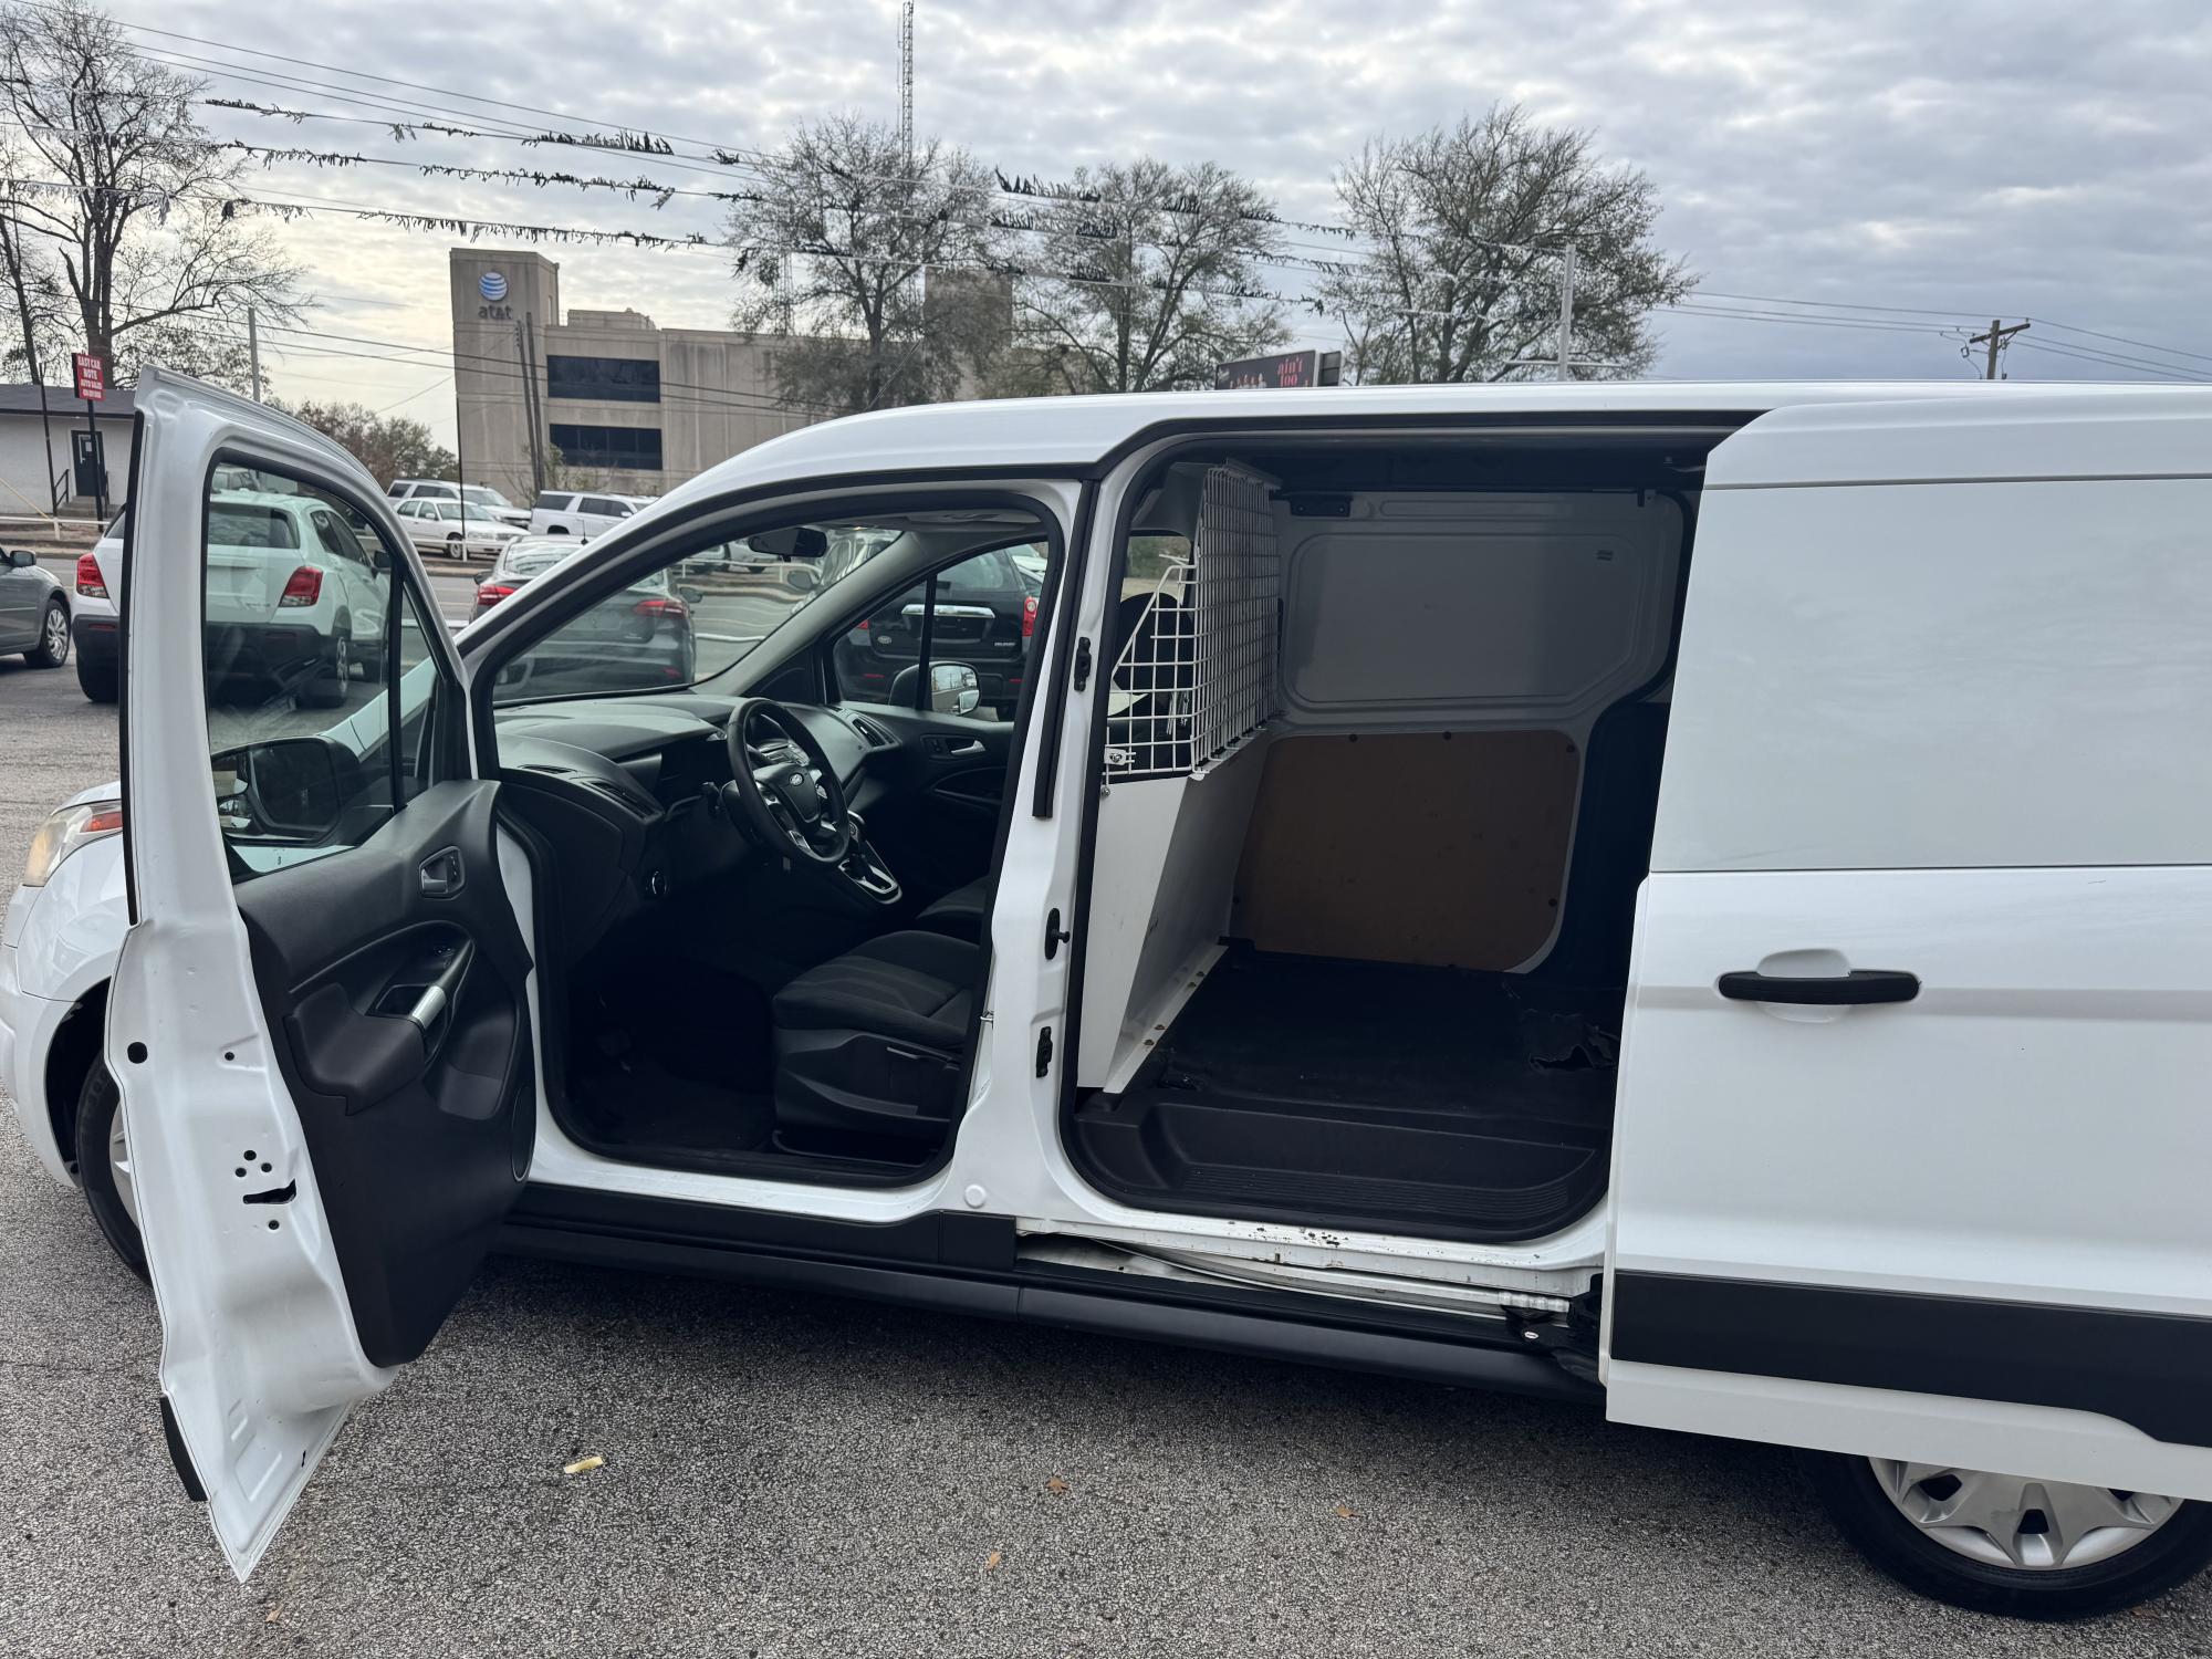
[[[1573,356],[1604,365],[1584,374],[1650,367],[1650,310],[1697,288],[1652,241],[1650,177],[1515,104],[1369,142],[1338,170],[1336,197],[1374,248],[1321,292],[1345,323],[1347,378],[1369,385],[1551,374],[1526,361],[1557,349],[1562,248],[1575,250]]]

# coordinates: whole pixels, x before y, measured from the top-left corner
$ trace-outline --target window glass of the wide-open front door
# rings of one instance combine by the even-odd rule
[[[374,520],[314,484],[219,467],[204,533],[201,692],[232,876],[358,847],[431,781],[440,624]]]

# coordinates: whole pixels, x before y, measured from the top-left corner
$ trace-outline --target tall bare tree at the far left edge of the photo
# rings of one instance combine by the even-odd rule
[[[64,349],[117,378],[153,358],[246,383],[237,338],[248,307],[299,316],[299,270],[223,199],[246,166],[210,148],[192,113],[204,82],[131,51],[86,0],[0,9],[0,100],[15,122],[9,177],[9,276]]]

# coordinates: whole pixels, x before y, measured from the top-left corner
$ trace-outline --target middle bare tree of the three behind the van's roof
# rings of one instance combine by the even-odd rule
[[[1214,365],[1290,338],[1267,288],[1274,204],[1228,168],[1077,168],[1035,228],[1015,283],[1020,389],[1210,387]]]

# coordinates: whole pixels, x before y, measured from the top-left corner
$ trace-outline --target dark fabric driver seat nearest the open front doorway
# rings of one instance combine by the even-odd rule
[[[938,1146],[960,1108],[980,969],[969,940],[883,933],[776,991],[776,1133]]]

